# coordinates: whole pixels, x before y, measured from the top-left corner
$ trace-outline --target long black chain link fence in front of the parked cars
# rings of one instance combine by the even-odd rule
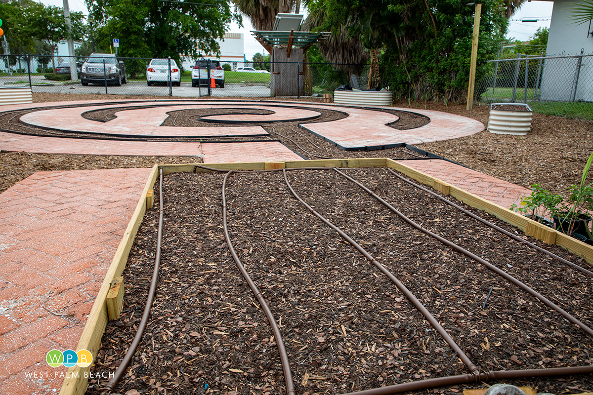
[[[71,68],[74,65],[75,70]],[[33,93],[176,97],[301,97],[349,84],[365,89],[368,65],[1,55],[0,86]]]

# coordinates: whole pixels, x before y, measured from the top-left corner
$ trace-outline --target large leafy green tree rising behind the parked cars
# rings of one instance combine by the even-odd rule
[[[85,0],[96,27],[95,43],[124,57],[168,57],[218,54],[217,38],[241,17],[229,1]],[[202,3],[202,4],[197,4]]]

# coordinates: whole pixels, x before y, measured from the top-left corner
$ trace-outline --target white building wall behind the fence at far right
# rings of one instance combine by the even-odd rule
[[[574,4],[574,0],[554,0],[546,56],[562,58],[544,63],[542,101],[593,101],[593,56],[578,56],[593,55],[593,23],[573,22]]]

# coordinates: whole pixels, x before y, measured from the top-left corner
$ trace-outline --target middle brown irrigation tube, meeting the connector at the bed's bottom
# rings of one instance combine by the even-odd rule
[[[422,306],[422,303],[420,303],[420,301],[414,296],[414,294],[412,292],[410,292],[410,290],[408,290],[406,285],[404,285],[401,281],[399,281],[397,279],[397,277],[395,277],[390,271],[388,271],[387,268],[385,268],[385,266],[381,265],[377,261],[377,259],[375,259],[364,248],[362,248],[361,245],[356,243],[350,236],[346,235],[346,233],[342,232],[342,230],[340,230],[339,227],[335,226],[333,223],[331,223],[330,221],[325,219],[323,216],[321,216],[321,214],[317,213],[317,211],[315,211],[313,209],[313,207],[308,205],[307,202],[302,200],[299,197],[299,195],[297,194],[297,192],[295,192],[295,190],[292,189],[291,183],[288,181],[288,177],[286,176],[286,171],[285,171],[286,169],[282,169],[282,170],[283,170],[282,173],[284,175],[284,181],[286,182],[286,185],[288,185],[288,189],[291,190],[294,197],[297,198],[297,200],[300,201],[305,207],[307,207],[308,210],[311,211],[311,213],[313,213],[315,217],[317,217],[318,219],[323,221],[327,226],[331,227],[331,229],[333,229],[337,233],[339,233],[339,235],[342,236],[343,239],[345,239],[347,242],[349,242],[354,248],[358,249],[358,251],[361,252],[362,255],[364,255],[365,258],[369,260],[369,262],[371,262],[373,265],[377,266],[377,268],[383,274],[385,274],[389,278],[389,280],[391,280],[391,282],[393,282],[393,284],[396,284],[396,287],[399,288],[400,291],[404,295],[406,295],[406,297],[414,304],[416,309],[420,310],[420,312],[423,314],[423,316],[426,317],[426,320],[428,320],[428,322],[432,325],[432,327],[435,328],[436,331],[441,334],[441,336],[445,339],[445,342],[447,342],[447,344],[451,347],[451,349],[453,349],[453,351],[457,352],[457,355],[459,356],[461,361],[463,361],[463,363],[466,364],[466,366],[470,370],[470,372],[472,372],[472,374],[479,374],[479,370],[478,370],[477,366],[473,362],[471,362],[470,358],[467,357],[466,353],[464,353],[463,350],[460,348],[460,346],[458,346],[457,343],[455,343],[455,341],[453,340],[453,338],[451,338],[449,333],[447,333],[445,328],[442,327],[441,324],[439,324],[439,322],[435,319],[435,317],[432,316],[432,314],[430,313],[430,311],[428,311],[426,309],[426,307]]]

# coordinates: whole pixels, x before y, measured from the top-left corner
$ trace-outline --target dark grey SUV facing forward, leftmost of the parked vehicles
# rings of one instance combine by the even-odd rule
[[[88,84],[127,84],[126,65],[111,53],[91,53],[82,64],[80,82]]]

